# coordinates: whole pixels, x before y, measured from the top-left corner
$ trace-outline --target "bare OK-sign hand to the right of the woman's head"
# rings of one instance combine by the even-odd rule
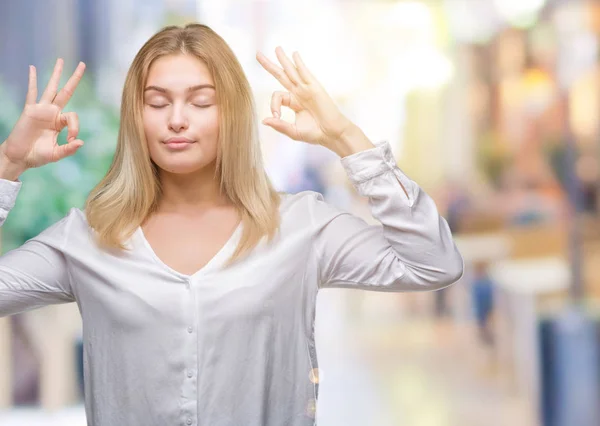
[[[277,59],[283,66],[274,64],[261,52],[256,59],[288,91],[277,91],[271,98],[273,117],[263,120],[263,124],[298,141],[334,146],[353,123],[337,108],[329,94],[311,74],[298,52],[290,60],[281,47],[275,49]],[[296,113],[295,123],[281,119],[281,106]]]

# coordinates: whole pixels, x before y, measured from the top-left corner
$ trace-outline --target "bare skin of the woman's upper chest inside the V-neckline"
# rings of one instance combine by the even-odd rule
[[[160,260],[171,269],[193,275],[223,248],[239,224],[232,207],[194,216],[155,213],[141,228]]]

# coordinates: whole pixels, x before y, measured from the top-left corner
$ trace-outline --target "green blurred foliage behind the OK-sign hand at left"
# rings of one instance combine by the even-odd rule
[[[61,83],[64,84],[67,78],[63,76]],[[42,77],[38,75],[40,94],[48,79],[49,73]],[[2,81],[0,99],[3,99],[0,103],[0,141],[4,141],[21,114],[23,104],[11,101],[16,97]],[[71,207],[83,209],[87,195],[108,171],[117,141],[118,109],[98,100],[91,78],[86,74],[64,110],[78,114],[79,139],[84,145],[71,157],[29,169],[21,175],[23,185],[17,202],[2,226],[3,252],[36,236],[63,218]],[[66,134],[66,129],[60,133],[59,144],[66,143]]]

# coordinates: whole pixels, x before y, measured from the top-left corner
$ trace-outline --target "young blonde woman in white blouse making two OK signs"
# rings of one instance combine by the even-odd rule
[[[0,315],[78,304],[90,425],[312,425],[319,289],[436,290],[461,277],[446,221],[389,144],[341,114],[297,53],[276,54],[279,65],[257,54],[286,89],[263,123],[337,153],[383,226],[316,192],[276,192],[225,41],[200,24],[155,34],[127,75],[114,160],[84,212],[0,258]],[[61,71],[58,60],[38,101],[30,69],[23,114],[0,145],[0,224],[21,173],[83,145],[62,109],[84,65],[58,90]]]

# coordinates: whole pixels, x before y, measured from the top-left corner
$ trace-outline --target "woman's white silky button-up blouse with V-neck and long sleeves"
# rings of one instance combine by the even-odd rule
[[[72,208],[0,257],[0,316],[77,303],[88,425],[314,425],[319,289],[437,290],[464,266],[434,201],[387,142],[341,162],[383,226],[316,192],[285,194],[272,243],[222,268],[240,225],[186,275],[156,256],[141,228],[130,251],[100,249]],[[0,225],[20,187],[0,179]]]

